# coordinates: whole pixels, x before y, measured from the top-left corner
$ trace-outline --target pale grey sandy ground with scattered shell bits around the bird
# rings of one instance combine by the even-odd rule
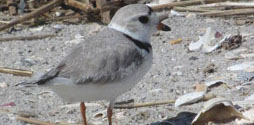
[[[154,52],[152,68],[139,84],[119,96],[117,101],[134,99],[134,103],[142,103],[177,99],[183,94],[193,92],[194,84],[218,78],[224,79],[231,88],[219,86],[209,93],[226,97],[233,102],[242,101],[253,94],[254,84],[237,88],[236,86],[241,86],[241,83],[237,82],[234,77],[230,77],[235,72],[226,70],[228,66],[247,60],[251,61],[251,58],[228,60],[225,58],[225,53],[228,50],[224,49],[216,50],[210,54],[188,51],[188,44],[198,40],[198,36],[204,34],[207,27],[212,27],[222,34],[237,34],[239,29],[242,34],[247,35],[240,48],[253,50],[254,43],[251,36],[253,36],[254,26],[252,24],[237,26],[232,19],[201,17],[170,17],[165,20],[165,23],[172,28],[172,31],[158,32],[152,37]],[[61,30],[55,29],[56,26]],[[75,45],[75,42],[71,41],[75,39],[75,35],[81,34],[88,37],[102,28],[95,23],[85,25],[51,24],[43,26],[41,31],[24,29],[12,33],[1,33],[0,37],[55,32],[58,32],[58,36],[43,40],[0,42],[0,66],[45,72],[56,66]],[[182,38],[183,41],[175,45],[169,43],[169,41],[178,38]],[[204,73],[203,70],[210,64],[215,65],[215,72]],[[50,122],[82,122],[78,104],[70,105],[63,102],[48,88],[14,86],[24,80],[29,80],[29,78],[0,74],[0,83],[8,84],[8,87],[0,88],[0,105],[9,102],[15,103],[15,106],[1,107],[1,109],[11,111],[11,113],[0,111],[1,125],[25,124],[15,119],[16,115],[22,114],[32,115],[35,119]],[[199,102],[178,108],[175,108],[174,104],[168,104],[136,109],[115,109],[113,122],[116,125],[159,124],[160,121],[175,117],[180,112],[197,113],[201,110],[203,103]],[[107,102],[91,102],[87,105],[89,123],[107,124],[105,115]],[[245,108],[247,107],[243,107],[243,109]],[[254,106],[250,104],[248,108],[254,108]],[[103,115],[101,116],[100,113]],[[231,124],[234,123],[231,122]]]

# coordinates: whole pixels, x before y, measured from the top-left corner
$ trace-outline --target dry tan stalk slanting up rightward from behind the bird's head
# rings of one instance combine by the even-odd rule
[[[208,4],[208,3],[217,3],[217,2],[225,2],[227,0],[191,0],[191,1],[180,1],[180,2],[171,2],[167,4],[152,6],[153,10],[162,10],[162,9],[172,9],[175,6],[190,6],[190,5],[198,5],[198,4]]]

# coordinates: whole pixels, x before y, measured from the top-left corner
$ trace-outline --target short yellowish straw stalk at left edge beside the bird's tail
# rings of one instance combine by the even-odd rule
[[[32,71],[11,69],[11,68],[4,68],[4,67],[0,67],[0,73],[13,74],[15,76],[25,76],[25,77],[31,77],[33,74]]]

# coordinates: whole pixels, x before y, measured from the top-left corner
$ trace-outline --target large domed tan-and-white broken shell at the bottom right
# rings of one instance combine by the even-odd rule
[[[225,123],[236,118],[245,118],[226,98],[213,98],[204,103],[203,108],[192,121],[193,125],[207,124],[208,122]]]

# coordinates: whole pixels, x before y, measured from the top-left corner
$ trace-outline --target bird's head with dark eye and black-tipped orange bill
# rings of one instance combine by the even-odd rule
[[[157,30],[171,30],[170,27],[161,23],[166,18],[168,18],[166,13],[158,14],[144,4],[131,4],[120,8],[108,27],[133,39],[150,42],[152,34]]]

